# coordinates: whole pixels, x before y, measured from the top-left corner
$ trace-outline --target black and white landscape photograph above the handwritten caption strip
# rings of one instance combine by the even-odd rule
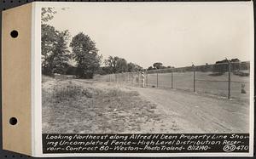
[[[41,6],[42,133],[251,133],[251,3]]]

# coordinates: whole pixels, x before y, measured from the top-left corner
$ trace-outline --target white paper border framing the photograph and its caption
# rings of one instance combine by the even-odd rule
[[[74,2],[60,2],[63,7],[70,7]],[[137,3],[166,3],[166,4],[217,4],[217,3],[242,3],[247,4],[252,12],[252,37],[250,40],[250,139],[248,153],[56,153],[43,154],[42,143],[42,93],[41,93],[41,8],[59,7],[58,2],[34,2],[32,3],[32,156],[38,157],[63,157],[63,156],[138,156],[138,157],[162,157],[162,156],[253,156],[253,130],[254,130],[254,26],[253,26],[253,1],[249,2],[136,2]],[[102,2],[83,2],[97,5]],[[113,2],[114,3],[114,2]],[[133,2],[118,2],[119,4]],[[134,2],[135,3],[135,2]],[[80,3],[79,3],[80,4]],[[108,3],[112,4],[112,3]]]

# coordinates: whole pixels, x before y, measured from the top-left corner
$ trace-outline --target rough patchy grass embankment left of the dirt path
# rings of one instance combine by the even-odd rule
[[[160,121],[156,105],[136,91],[85,80],[42,79],[43,133],[139,133]]]

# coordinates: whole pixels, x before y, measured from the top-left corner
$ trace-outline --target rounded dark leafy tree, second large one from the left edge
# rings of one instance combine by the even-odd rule
[[[98,55],[96,43],[88,35],[80,32],[70,43],[72,58],[77,62],[77,77],[92,78],[100,68],[102,56]]]

